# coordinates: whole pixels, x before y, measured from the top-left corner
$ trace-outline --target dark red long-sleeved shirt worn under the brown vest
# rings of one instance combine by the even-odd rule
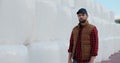
[[[75,49],[75,55],[73,57],[74,60],[77,60],[78,63],[85,63],[84,61],[81,61],[81,32],[82,32],[82,29],[84,27],[81,27],[81,30],[79,32],[79,35],[78,35],[78,39],[77,39],[77,44],[76,44],[76,49]],[[97,28],[94,27],[94,29],[92,30],[91,32],[91,35],[90,35],[90,42],[91,42],[91,56],[97,56],[97,53],[98,53],[98,31],[97,31]],[[71,34],[71,37],[70,37],[70,45],[69,45],[69,49],[68,49],[68,52],[69,53],[72,53],[72,48],[73,48],[73,33]],[[79,59],[78,59],[79,58]]]

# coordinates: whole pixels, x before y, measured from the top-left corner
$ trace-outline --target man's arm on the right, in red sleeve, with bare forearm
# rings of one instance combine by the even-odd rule
[[[94,59],[98,54],[98,31],[96,27],[91,32],[90,40],[92,45],[90,63],[94,63]]]

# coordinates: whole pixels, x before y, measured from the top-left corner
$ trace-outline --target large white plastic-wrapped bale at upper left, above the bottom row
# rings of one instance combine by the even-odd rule
[[[34,3],[1,0],[0,4],[0,44],[23,44],[32,33]]]

